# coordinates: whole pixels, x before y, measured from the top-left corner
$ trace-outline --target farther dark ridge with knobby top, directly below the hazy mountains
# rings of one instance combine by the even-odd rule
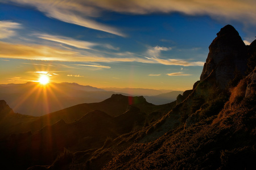
[[[131,97],[123,96],[121,94],[113,94],[109,99],[101,101],[100,103],[79,104],[44,116],[34,117],[14,113],[5,101],[2,100],[1,103],[3,109],[0,109],[0,117],[3,118],[0,120],[0,127],[2,127],[0,130],[0,139],[7,137],[10,134],[18,134],[27,131],[34,133],[35,131],[42,129],[44,126],[51,126],[60,120],[69,124],[95,110],[100,110],[112,117],[116,117],[125,113],[130,109],[130,107],[135,106],[148,115],[151,115],[151,112],[156,112],[157,114],[154,113],[155,115],[150,116],[152,119],[168,112],[168,110],[176,104],[170,103],[158,106],[147,103],[143,96]]]

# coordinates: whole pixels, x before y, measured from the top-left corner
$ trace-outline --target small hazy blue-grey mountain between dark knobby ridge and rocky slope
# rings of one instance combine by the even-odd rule
[[[144,97],[149,103],[160,105],[160,104],[167,104],[167,103],[171,103],[172,101],[175,101],[176,97],[182,93],[183,93],[182,91],[171,91],[165,94],[160,94],[156,96],[144,96]]]

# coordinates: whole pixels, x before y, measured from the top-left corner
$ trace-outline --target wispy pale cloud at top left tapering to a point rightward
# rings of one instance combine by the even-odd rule
[[[61,0],[11,0],[23,5],[30,5],[36,7],[39,11],[46,14],[49,18],[55,18],[63,22],[81,25],[91,29],[112,33],[114,35],[126,35],[117,28],[101,24],[93,20],[101,16],[101,10],[96,6],[91,6],[89,1],[61,1]]]

